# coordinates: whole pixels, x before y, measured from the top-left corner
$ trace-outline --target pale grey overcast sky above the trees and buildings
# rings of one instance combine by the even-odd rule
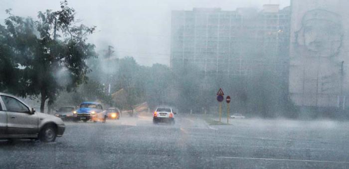
[[[0,20],[7,17],[5,9],[12,13],[36,18],[37,11],[59,9],[61,0],[0,0]],[[290,0],[68,0],[77,17],[97,31],[89,41],[97,50],[113,45],[120,57],[134,56],[142,65],[170,64],[171,11],[191,10],[193,7],[220,7],[235,10],[236,7],[262,8],[266,3]]]

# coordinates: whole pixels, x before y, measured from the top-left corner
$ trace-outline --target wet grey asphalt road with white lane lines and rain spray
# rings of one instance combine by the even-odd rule
[[[0,142],[0,168],[349,168],[349,123],[231,120],[210,126],[176,117],[174,126],[150,116],[107,123],[66,123],[55,143]]]

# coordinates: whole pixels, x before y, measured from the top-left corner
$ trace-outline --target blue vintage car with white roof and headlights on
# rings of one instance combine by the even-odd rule
[[[107,119],[106,111],[103,111],[102,105],[96,102],[83,102],[80,108],[73,113],[76,121],[105,122]]]

